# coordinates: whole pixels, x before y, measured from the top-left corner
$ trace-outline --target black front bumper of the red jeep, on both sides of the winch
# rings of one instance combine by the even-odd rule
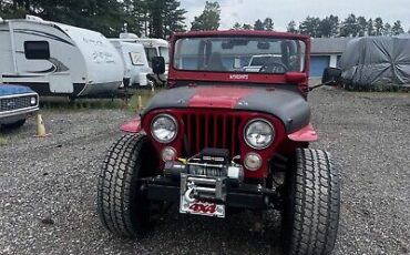
[[[164,176],[142,178],[142,188],[148,200],[178,203],[181,198],[180,182]],[[266,210],[277,198],[275,191],[255,184],[226,185],[227,207],[246,210]]]

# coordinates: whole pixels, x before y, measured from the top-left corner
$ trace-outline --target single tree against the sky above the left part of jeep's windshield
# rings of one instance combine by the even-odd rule
[[[205,3],[205,9],[201,16],[195,17],[191,23],[191,30],[217,30],[221,21],[221,6],[218,2]]]

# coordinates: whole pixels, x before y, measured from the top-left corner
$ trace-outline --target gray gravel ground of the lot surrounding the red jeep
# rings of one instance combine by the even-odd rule
[[[410,94],[311,93],[320,142],[341,167],[341,218],[335,254],[410,254]],[[227,220],[172,208],[141,241],[110,235],[95,213],[96,176],[130,112],[42,111],[3,133],[0,147],[0,254],[280,254],[279,225],[253,234],[249,214]],[[275,215],[274,215],[275,217]]]

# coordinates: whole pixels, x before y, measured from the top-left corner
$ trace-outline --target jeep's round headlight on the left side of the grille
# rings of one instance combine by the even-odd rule
[[[177,133],[177,124],[173,116],[160,114],[151,123],[152,136],[160,143],[172,142]]]

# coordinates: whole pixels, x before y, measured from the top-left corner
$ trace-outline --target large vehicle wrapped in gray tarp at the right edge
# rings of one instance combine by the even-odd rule
[[[351,40],[339,65],[353,85],[410,86],[410,37],[367,37]]]

